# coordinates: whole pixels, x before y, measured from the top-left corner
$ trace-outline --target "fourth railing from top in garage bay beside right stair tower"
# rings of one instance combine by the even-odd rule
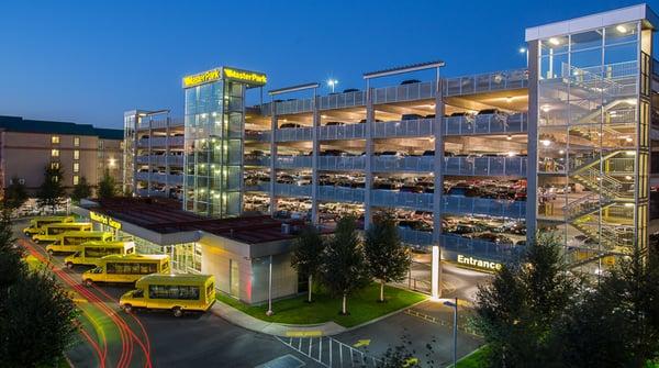
[[[454,214],[481,214],[499,218],[525,219],[526,201],[442,196],[442,211],[444,213]]]

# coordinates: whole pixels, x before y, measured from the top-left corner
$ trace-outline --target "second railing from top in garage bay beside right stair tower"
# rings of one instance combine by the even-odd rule
[[[445,135],[516,134],[527,130],[527,113],[444,118]]]

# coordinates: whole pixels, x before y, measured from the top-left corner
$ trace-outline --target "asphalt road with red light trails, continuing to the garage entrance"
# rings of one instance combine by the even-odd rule
[[[44,264],[48,263],[44,247],[32,243],[18,228],[25,222],[16,223],[16,237],[20,244]],[[282,356],[294,356],[301,367],[321,367],[300,353],[284,345],[282,341],[235,326],[211,314],[191,314],[176,319],[165,312],[139,312],[126,314],[119,309],[118,299],[130,288],[119,286],[82,287],[82,267],[66,269],[64,256],[51,260],[53,271],[62,282],[75,292],[75,301],[82,311],[79,342],[67,356],[75,367],[257,367]],[[467,293],[471,277],[461,275],[461,269],[445,268],[445,277],[466,278],[465,285],[451,280],[459,288],[455,291]],[[478,274],[478,272],[477,272]],[[433,305],[428,306],[435,312]],[[446,366],[453,356],[453,331],[449,326],[434,324],[417,316],[399,313],[365,327],[334,336],[346,346],[354,346],[360,339],[368,339],[366,349],[371,356],[379,356],[387,348],[401,344],[401,336],[409,335],[415,357],[421,361],[432,359],[435,367]],[[433,342],[435,339],[435,342]],[[432,354],[425,347],[431,344]],[[478,338],[459,334],[458,352],[462,356],[479,345]],[[279,367],[295,367],[279,366]]]

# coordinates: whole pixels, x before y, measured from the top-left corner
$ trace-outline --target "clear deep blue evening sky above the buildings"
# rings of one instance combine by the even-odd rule
[[[135,108],[181,115],[181,77],[221,65],[266,73],[267,89],[364,88],[365,71],[435,59],[446,76],[517,68],[525,27],[636,3],[3,0],[0,115],[104,127]]]

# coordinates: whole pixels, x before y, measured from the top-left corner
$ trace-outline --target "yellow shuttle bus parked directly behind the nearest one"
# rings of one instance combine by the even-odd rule
[[[82,274],[82,282],[90,287],[94,282],[133,283],[149,274],[169,272],[169,256],[158,255],[111,255],[99,260],[99,266]]]

